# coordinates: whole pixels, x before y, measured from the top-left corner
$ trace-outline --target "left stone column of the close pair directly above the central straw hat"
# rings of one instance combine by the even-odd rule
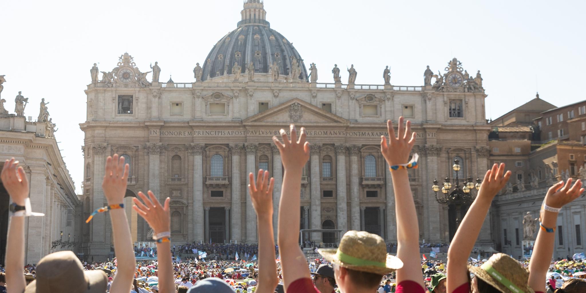
[[[346,199],[346,147],[335,145],[336,149],[336,225],[342,235],[348,230],[347,199]]]

